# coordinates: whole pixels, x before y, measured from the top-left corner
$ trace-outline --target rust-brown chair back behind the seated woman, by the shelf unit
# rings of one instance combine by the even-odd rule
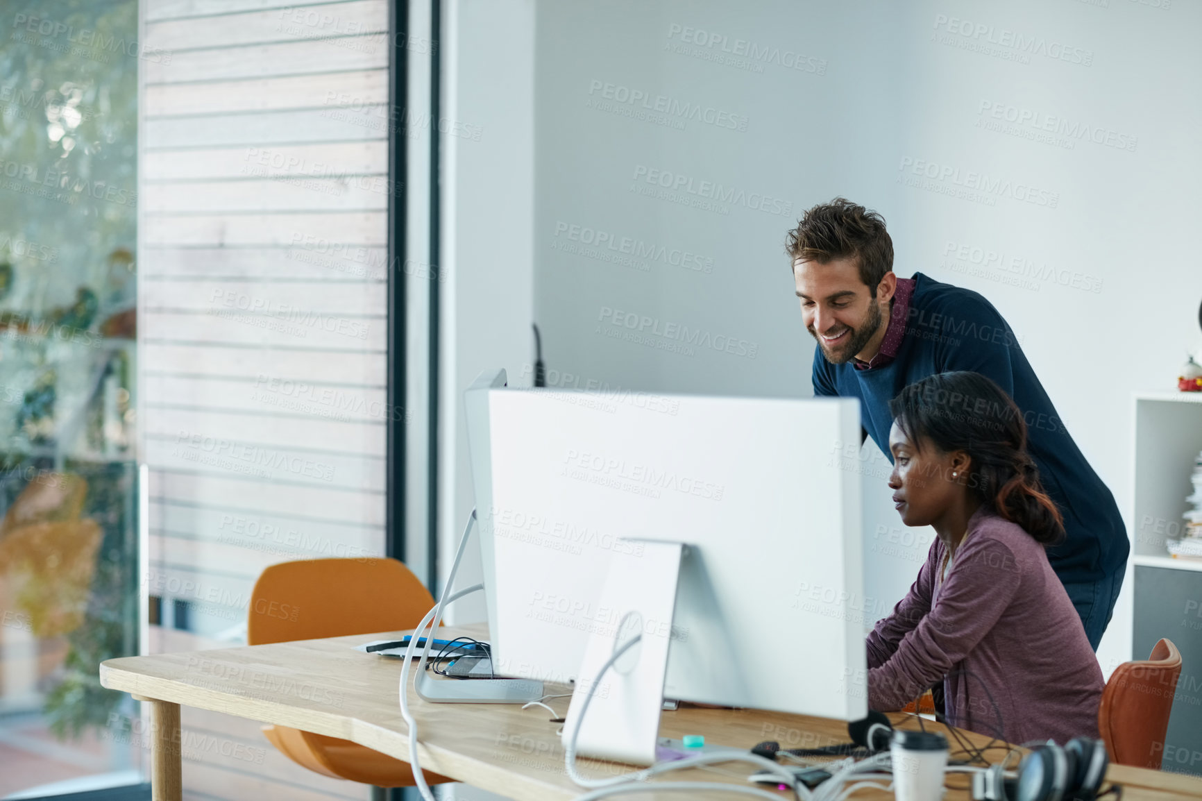
[[[1180,675],[1182,654],[1168,640],[1158,642],[1148,659],[1114,670],[1097,708],[1097,730],[1112,763],[1160,769]]]

